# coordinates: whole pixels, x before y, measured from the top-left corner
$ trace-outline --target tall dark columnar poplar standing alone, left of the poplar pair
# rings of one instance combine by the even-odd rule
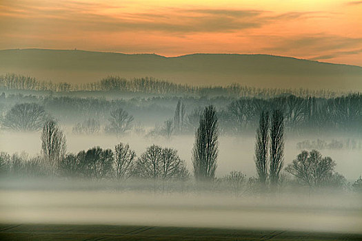
[[[192,149],[194,176],[197,180],[213,180],[219,154],[219,129],[215,107],[206,107],[201,115]]]

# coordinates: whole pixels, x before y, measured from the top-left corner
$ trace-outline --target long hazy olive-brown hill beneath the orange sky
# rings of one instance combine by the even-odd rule
[[[119,54],[82,50],[0,50],[0,74],[87,83],[108,75],[174,83],[362,91],[362,67],[265,54]]]

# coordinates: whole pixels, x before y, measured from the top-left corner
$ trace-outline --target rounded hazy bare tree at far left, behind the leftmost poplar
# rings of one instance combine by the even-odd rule
[[[38,131],[47,118],[46,111],[35,103],[14,105],[2,120],[4,127],[15,131]]]

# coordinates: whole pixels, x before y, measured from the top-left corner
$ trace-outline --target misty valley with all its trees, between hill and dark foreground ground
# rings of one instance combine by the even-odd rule
[[[358,93],[16,74],[0,93],[1,222],[360,231]]]

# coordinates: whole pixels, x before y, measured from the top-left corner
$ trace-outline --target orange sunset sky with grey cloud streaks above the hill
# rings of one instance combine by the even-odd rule
[[[0,49],[274,54],[362,66],[362,1],[0,0]]]

